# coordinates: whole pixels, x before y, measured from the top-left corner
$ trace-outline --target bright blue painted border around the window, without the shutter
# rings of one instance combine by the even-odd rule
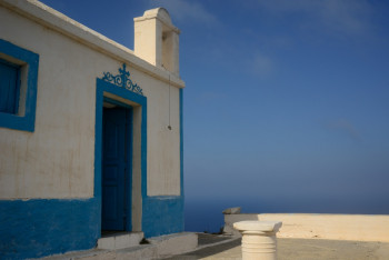
[[[0,39],[0,52],[28,64],[26,112],[23,117],[0,112],[0,127],[34,131],[39,54]]]

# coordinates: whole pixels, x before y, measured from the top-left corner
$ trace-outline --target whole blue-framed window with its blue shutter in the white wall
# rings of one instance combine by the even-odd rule
[[[39,56],[0,39],[0,128],[34,131]]]

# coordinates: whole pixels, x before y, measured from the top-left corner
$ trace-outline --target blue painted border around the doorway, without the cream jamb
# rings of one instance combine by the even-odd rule
[[[107,98],[103,96],[103,93],[111,93],[114,96],[118,96],[120,98],[127,99],[129,101],[132,101],[134,103],[138,103],[142,108],[142,122],[141,122],[141,178],[142,182],[146,180],[147,177],[147,98],[143,96],[140,96],[138,93],[131,92],[124,88],[118,87],[113,83],[107,82],[102,79],[97,79],[97,90],[96,90],[96,140],[94,140],[94,197],[98,198],[100,201],[101,207],[101,163],[102,163],[102,104],[103,101],[108,101],[113,104],[118,104],[120,107],[124,108],[132,108],[129,104],[122,103],[118,100]],[[132,128],[132,116],[131,116],[131,128]],[[132,143],[132,140],[131,140]],[[132,168],[132,167],[131,167]],[[132,180],[130,180],[132,181]],[[147,182],[146,182],[147,183]],[[129,184],[129,188],[131,184]],[[130,190],[130,189],[129,189]],[[131,190],[130,190],[131,192]],[[142,191],[143,192],[143,191]],[[132,230],[132,221],[131,221],[131,207],[132,201],[129,201],[128,206],[128,218],[126,222],[126,229],[127,231]],[[101,214],[99,216],[98,221],[99,227],[101,227]],[[101,237],[101,230],[99,233],[99,237]]]

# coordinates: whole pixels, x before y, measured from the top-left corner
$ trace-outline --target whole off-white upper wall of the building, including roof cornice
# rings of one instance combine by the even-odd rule
[[[1,39],[40,57],[34,132],[0,128],[0,199],[93,197],[96,79],[106,71],[118,73],[122,62],[148,99],[148,194],[180,194],[179,88],[184,84],[178,74],[149,64],[37,1],[0,0],[0,23],[7,24],[0,27]],[[167,129],[169,73],[171,131]],[[133,109],[137,231],[141,227],[141,111]]]

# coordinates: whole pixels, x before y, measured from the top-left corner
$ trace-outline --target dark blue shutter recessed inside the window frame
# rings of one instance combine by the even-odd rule
[[[0,60],[0,112],[18,112],[19,70],[19,67]]]

